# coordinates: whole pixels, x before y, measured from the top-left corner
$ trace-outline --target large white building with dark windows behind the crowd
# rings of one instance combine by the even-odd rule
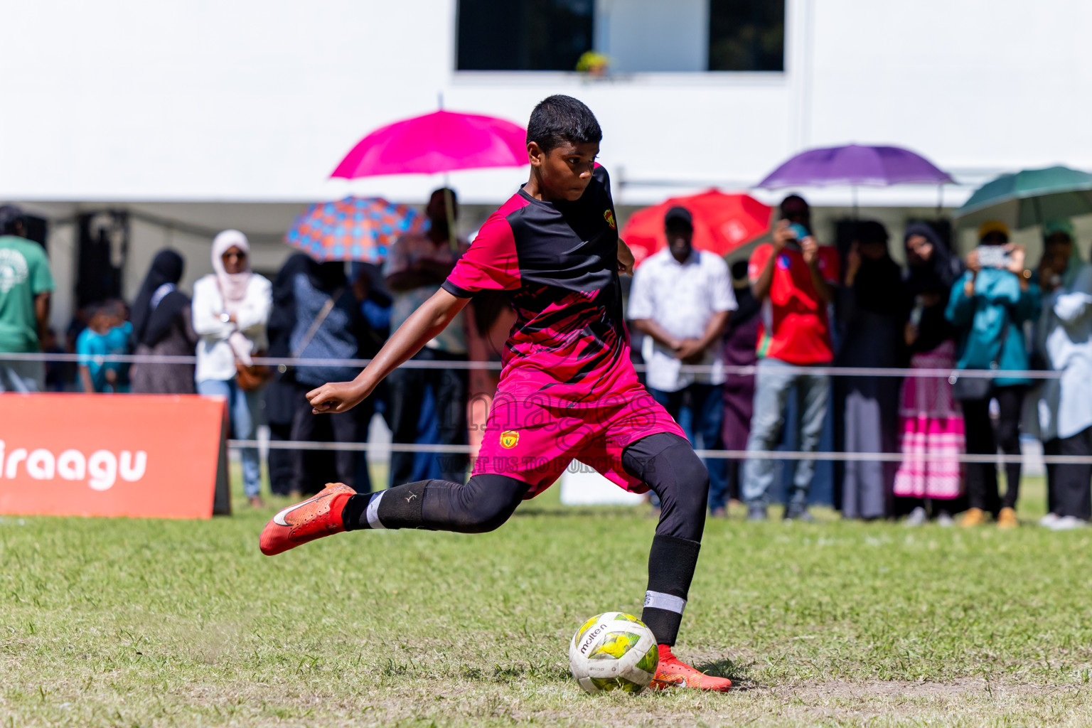
[[[769,19],[782,10],[779,47]],[[275,268],[276,240],[308,202],[426,198],[439,178],[328,176],[368,131],[441,95],[521,123],[549,94],[585,100],[620,205],[747,188],[795,152],[853,141],[951,171],[961,184],[945,206],[998,171],[1092,168],[1087,0],[13,0],[4,14],[0,200],[49,219],[58,325],[73,305],[76,214],[130,212],[129,297],[163,246],[187,253],[187,281],[205,273],[223,227],[253,235],[257,265]],[[506,22],[524,31],[497,33]],[[608,77],[460,70],[556,64],[580,43],[610,57]],[[753,67],[759,46],[760,64],[781,70],[708,70]],[[483,205],[466,225],[524,176],[453,175],[462,201]],[[846,213],[848,190],[807,192],[822,219]],[[938,191],[860,190],[859,202],[898,232],[935,216]]]

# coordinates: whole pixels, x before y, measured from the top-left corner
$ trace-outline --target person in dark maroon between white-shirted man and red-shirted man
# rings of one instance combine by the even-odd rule
[[[758,361],[755,344],[758,342],[761,305],[751,293],[747,279],[747,261],[732,264],[732,287],[739,305],[724,331],[724,363],[729,367],[752,367]],[[728,372],[724,381],[724,425],[721,440],[725,450],[746,450],[750,432],[751,413],[755,407],[755,374]],[[721,492],[709,490],[709,508],[714,516],[726,514],[727,500],[740,499],[740,465],[737,460],[725,461],[725,488]]]

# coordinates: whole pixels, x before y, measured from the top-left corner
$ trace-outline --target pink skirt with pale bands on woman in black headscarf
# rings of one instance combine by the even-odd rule
[[[912,369],[950,369],[954,346],[945,342],[933,351],[914,355]],[[903,381],[899,413],[902,463],[894,476],[894,494],[911,498],[959,498],[963,472],[959,456],[966,450],[963,415],[942,378]]]

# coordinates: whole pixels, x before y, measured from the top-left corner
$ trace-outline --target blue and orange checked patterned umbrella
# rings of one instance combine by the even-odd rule
[[[317,202],[296,218],[284,240],[314,260],[382,263],[405,232],[425,230],[425,216],[382,198]]]

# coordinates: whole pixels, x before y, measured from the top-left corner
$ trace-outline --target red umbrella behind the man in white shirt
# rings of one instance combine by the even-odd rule
[[[770,229],[773,212],[749,194],[725,194],[719,190],[672,198],[639,210],[621,230],[621,239],[638,263],[667,244],[664,214],[676,205],[689,210],[693,217],[693,247],[717,255],[727,255]]]

